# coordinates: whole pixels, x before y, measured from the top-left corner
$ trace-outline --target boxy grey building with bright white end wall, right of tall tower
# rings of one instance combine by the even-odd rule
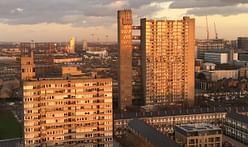
[[[227,53],[214,53],[214,52],[205,52],[204,61],[217,63],[217,64],[226,64],[228,63],[228,54]]]

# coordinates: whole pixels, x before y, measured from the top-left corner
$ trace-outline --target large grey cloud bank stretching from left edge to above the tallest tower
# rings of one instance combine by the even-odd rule
[[[162,2],[164,0],[157,0]],[[11,25],[58,23],[72,26],[111,25],[116,12],[132,8],[136,15],[160,9],[152,0],[8,0],[0,1],[0,22]]]

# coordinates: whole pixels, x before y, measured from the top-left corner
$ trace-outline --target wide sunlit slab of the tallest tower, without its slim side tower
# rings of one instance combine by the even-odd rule
[[[195,20],[141,19],[145,105],[194,103]]]

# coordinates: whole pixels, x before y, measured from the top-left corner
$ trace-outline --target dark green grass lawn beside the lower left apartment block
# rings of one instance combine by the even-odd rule
[[[21,124],[11,111],[0,110],[0,140],[22,136]]]

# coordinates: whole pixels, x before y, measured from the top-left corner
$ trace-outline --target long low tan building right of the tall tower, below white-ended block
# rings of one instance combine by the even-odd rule
[[[210,81],[218,81],[221,79],[238,79],[239,78],[239,70],[214,70],[214,71],[204,71],[203,74],[206,76],[207,80]]]

